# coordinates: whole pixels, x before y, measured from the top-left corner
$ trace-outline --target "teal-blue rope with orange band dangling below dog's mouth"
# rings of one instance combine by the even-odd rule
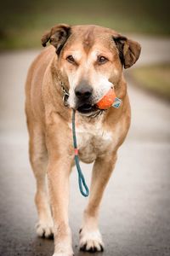
[[[82,193],[82,195],[88,196],[89,195],[88,186],[87,186],[85,178],[82,174],[82,169],[80,167],[79,157],[78,157],[75,115],[76,115],[76,110],[73,109],[72,110],[72,136],[73,136],[73,146],[75,149],[75,162],[77,165],[77,172],[78,172],[78,184],[79,184],[79,189],[80,189],[80,192]]]

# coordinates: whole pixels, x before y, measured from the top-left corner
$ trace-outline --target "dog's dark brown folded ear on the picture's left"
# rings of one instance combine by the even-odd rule
[[[53,26],[49,32],[42,36],[42,46],[45,47],[49,43],[54,45],[56,52],[59,55],[60,50],[64,46],[67,38],[71,34],[71,26],[66,24],[59,24]]]

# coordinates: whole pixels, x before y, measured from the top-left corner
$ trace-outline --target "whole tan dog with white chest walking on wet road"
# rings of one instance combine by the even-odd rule
[[[37,234],[54,234],[54,256],[73,255],[68,198],[74,164],[71,109],[76,109],[79,158],[85,163],[94,162],[80,248],[102,251],[99,204],[116,163],[116,151],[130,125],[122,67],[131,67],[138,60],[140,45],[108,28],[65,24],[45,33],[42,45],[48,41],[52,46],[37,56],[26,81],[30,160],[37,180]],[[122,105],[100,112],[96,102],[112,87]]]

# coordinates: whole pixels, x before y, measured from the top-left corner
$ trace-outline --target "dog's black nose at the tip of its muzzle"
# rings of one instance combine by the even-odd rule
[[[92,96],[93,88],[88,84],[79,84],[75,89],[75,94],[80,100],[87,100]]]

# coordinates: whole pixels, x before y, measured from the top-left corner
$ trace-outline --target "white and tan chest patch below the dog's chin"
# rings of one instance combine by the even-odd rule
[[[79,157],[85,163],[93,162],[111,147],[111,132],[106,131],[101,122],[95,124],[82,122],[77,125],[76,131]]]

